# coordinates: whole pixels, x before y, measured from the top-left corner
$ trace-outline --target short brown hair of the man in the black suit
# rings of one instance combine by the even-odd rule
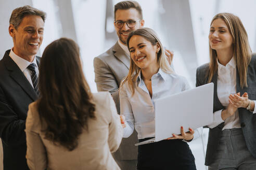
[[[14,25],[15,29],[17,30],[22,19],[28,15],[40,16],[44,22],[46,19],[46,13],[44,11],[33,8],[29,5],[25,5],[23,7],[16,8],[12,11],[9,23]]]

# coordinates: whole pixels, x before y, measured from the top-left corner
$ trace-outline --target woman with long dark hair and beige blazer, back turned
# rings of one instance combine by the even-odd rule
[[[71,39],[44,50],[41,96],[26,121],[30,169],[120,169],[111,155],[123,135],[116,105],[108,92],[91,93],[81,64]]]

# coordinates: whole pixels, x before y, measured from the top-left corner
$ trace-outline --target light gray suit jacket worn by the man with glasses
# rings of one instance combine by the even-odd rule
[[[108,51],[94,58],[95,82],[98,91],[109,91],[112,94],[117,111],[120,113],[119,87],[122,79],[128,74],[130,56],[119,46],[118,42]],[[123,138],[122,143],[113,154],[118,160],[137,160],[138,142],[136,131],[129,138]]]

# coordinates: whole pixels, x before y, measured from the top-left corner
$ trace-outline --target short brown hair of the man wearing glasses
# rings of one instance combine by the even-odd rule
[[[122,1],[114,5],[114,20],[116,20],[116,12],[118,9],[130,9],[135,8],[139,13],[139,19],[143,19],[142,15],[142,7],[140,7],[139,3],[136,1]]]

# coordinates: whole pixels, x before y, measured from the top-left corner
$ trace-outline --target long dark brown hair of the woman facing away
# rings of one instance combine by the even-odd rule
[[[85,80],[79,47],[68,38],[49,44],[40,63],[37,102],[45,138],[73,150],[87,121],[95,118],[95,104]]]

